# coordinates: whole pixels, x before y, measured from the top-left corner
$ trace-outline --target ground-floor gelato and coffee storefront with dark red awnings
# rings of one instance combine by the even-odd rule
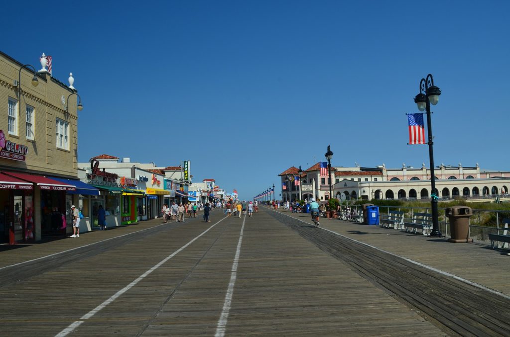
[[[75,191],[76,187],[74,185],[39,175],[7,171],[2,173],[32,184],[34,191],[32,195],[29,193],[23,193],[22,195],[15,193],[11,204],[14,206],[14,217],[16,213],[20,215],[17,219],[12,218],[13,226],[16,227],[15,224],[19,221],[22,223],[22,229],[15,229],[14,232],[21,231],[23,242],[32,242],[38,230],[40,230],[41,236],[65,236],[72,231],[72,221],[70,224],[68,223],[66,213],[71,209],[74,201],[72,195],[66,193]],[[39,201],[40,207],[37,207],[37,201]],[[34,215],[40,216],[40,228],[34,228],[33,226],[33,223],[35,223]],[[15,241],[18,242],[16,235]]]

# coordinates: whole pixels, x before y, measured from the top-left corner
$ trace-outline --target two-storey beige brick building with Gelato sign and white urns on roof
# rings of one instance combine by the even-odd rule
[[[52,180],[78,179],[77,91],[31,63],[0,52],[0,242],[67,235],[78,200],[75,186]]]

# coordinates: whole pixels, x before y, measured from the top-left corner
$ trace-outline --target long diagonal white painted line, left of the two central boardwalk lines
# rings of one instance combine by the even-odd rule
[[[99,304],[98,306],[96,306],[95,308],[93,308],[90,312],[88,312],[87,314],[83,315],[80,319],[81,320],[86,320],[86,319],[89,319],[91,318],[92,316],[94,316],[95,314],[97,314],[98,311],[100,311],[101,309],[103,309],[104,307],[106,307],[108,304],[112,303],[115,299],[117,299],[120,295],[122,295],[123,293],[125,293],[126,291],[130,290],[131,288],[133,288],[134,286],[137,285],[137,283],[139,283],[142,279],[144,279],[147,275],[149,275],[151,272],[155,271],[156,269],[158,269],[159,267],[161,267],[165,262],[167,262],[168,260],[170,260],[171,258],[173,258],[175,255],[179,254],[181,251],[183,251],[186,247],[188,247],[190,244],[192,244],[193,242],[195,242],[199,237],[201,237],[202,235],[206,234],[207,232],[209,232],[214,226],[216,226],[218,223],[220,223],[221,221],[223,221],[224,219],[226,218],[222,218],[221,220],[219,220],[218,222],[216,222],[215,224],[213,224],[211,227],[209,227],[207,230],[203,231],[200,235],[198,235],[197,237],[195,237],[193,240],[191,240],[190,242],[186,243],[184,246],[182,246],[181,248],[175,250],[172,254],[170,254],[169,256],[167,256],[166,258],[164,258],[163,260],[161,260],[158,264],[156,264],[154,267],[150,268],[149,270],[147,270],[146,272],[144,272],[142,275],[140,275],[137,279],[135,279],[132,283],[130,283],[129,285],[125,286],[124,288],[122,288],[121,290],[119,290],[118,292],[116,292],[112,297],[110,297],[109,299],[107,299],[106,301],[104,301],[103,303]],[[65,328],[64,330],[60,331],[60,333],[58,333],[56,335],[56,337],[63,337],[65,335],[67,335],[68,333],[70,332],[73,332],[75,328],[77,328],[80,324],[82,324],[84,321],[75,321],[73,322],[72,324],[70,324],[67,328]]]

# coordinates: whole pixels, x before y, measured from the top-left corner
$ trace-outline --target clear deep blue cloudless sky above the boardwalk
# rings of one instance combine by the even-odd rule
[[[405,113],[432,73],[436,164],[510,169],[509,2],[20,4],[2,5],[0,50],[74,74],[80,161],[189,159],[241,199],[278,197],[277,175],[327,145],[335,166],[428,166]]]

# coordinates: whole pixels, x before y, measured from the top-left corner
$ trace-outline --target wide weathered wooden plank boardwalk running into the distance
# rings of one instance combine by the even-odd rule
[[[377,266],[380,262],[374,257],[360,256],[359,263],[354,257],[343,260],[334,254],[339,249],[327,251],[334,234],[304,223],[296,225],[301,223],[296,219],[307,221],[308,215],[294,214],[296,219],[290,221],[283,218],[291,219],[289,215],[263,209],[252,218],[224,218],[214,211],[208,223],[196,218],[161,224],[156,219],[1,251],[0,331],[6,336],[55,336],[74,323],[78,325],[69,330],[73,336],[215,335],[243,229],[225,335],[470,334],[424,317],[416,306],[354,267],[363,266],[367,259]],[[458,271],[454,265],[463,260],[457,260],[453,251],[467,249],[343,222],[330,220],[322,227],[384,250],[394,249],[395,254],[413,260],[422,259],[424,264],[430,265],[436,257],[432,264],[438,269],[450,260],[453,269],[445,267],[445,271]],[[317,238],[324,240],[322,246]],[[423,247],[414,244],[413,248],[415,241]],[[498,269],[494,260],[507,258],[482,247],[465,246],[480,249],[480,255],[492,255],[487,261],[493,262],[486,268]],[[350,244],[345,247],[355,249]],[[452,254],[443,252],[438,259],[440,249],[451,249]],[[406,250],[412,254],[405,255]],[[475,253],[469,250],[469,254]],[[23,263],[34,259],[38,260]],[[9,267],[16,263],[20,264]],[[489,269],[484,281],[479,277],[486,274],[482,267],[471,264],[460,276],[471,275],[489,287],[506,282],[504,271],[508,269],[496,273],[501,275],[496,280],[490,279]],[[152,271],[140,278],[148,270]],[[504,287],[491,288],[507,293]],[[429,295],[439,304],[443,301]]]

